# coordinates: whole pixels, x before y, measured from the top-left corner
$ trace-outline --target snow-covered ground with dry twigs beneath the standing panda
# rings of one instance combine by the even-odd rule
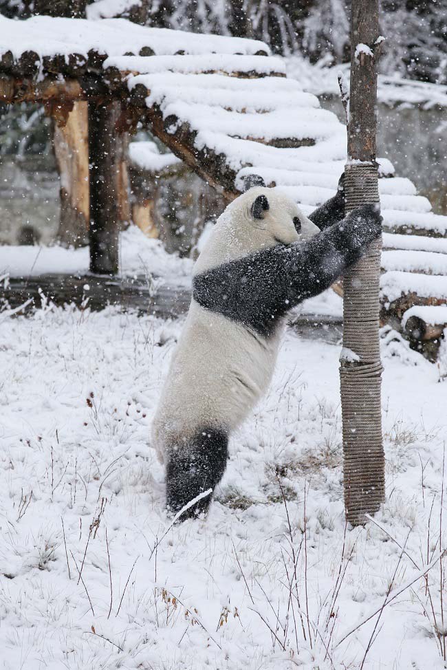
[[[171,528],[148,435],[181,321],[0,320],[2,669],[446,667],[439,562],[413,582],[447,539],[442,362],[384,334],[387,500],[352,530],[340,347],[288,331],[208,517]]]

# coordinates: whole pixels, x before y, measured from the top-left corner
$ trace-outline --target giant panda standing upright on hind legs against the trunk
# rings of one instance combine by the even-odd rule
[[[219,483],[228,437],[272,378],[287,312],[326,290],[380,236],[378,206],[344,215],[335,197],[307,218],[258,175],[217,220],[193,269],[193,296],[153,420],[177,513]],[[182,518],[207,510],[202,497]]]

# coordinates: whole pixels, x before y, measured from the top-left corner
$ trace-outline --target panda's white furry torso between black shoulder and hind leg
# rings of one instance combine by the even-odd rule
[[[198,426],[230,432],[243,422],[270,383],[280,336],[257,336],[191,302],[153,422],[160,460]]]

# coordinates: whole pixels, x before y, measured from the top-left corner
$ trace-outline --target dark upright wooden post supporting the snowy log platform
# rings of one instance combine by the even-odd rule
[[[118,273],[116,105],[89,102],[90,271]]]

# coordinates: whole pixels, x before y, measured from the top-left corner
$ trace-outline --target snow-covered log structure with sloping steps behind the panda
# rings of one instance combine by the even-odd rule
[[[118,270],[119,142],[107,134],[116,140],[138,122],[227,200],[252,172],[281,186],[306,213],[334,194],[345,127],[285,76],[283,61],[262,42],[125,19],[0,17],[0,34],[0,100],[40,102],[61,127],[73,105],[87,101],[90,184],[98,189],[89,206],[94,272]],[[388,160],[378,162],[381,316],[400,325],[415,303],[447,303],[447,217],[431,212]]]

